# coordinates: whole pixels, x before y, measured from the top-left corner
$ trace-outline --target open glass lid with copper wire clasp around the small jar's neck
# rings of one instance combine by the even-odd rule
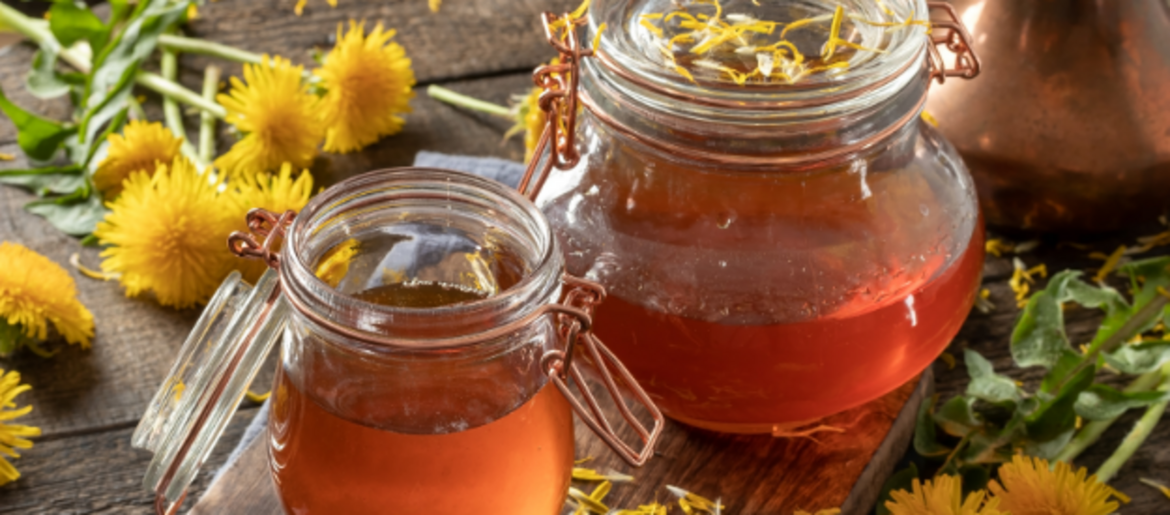
[[[470,183],[469,191],[490,190],[493,194],[507,194],[510,202],[519,204],[524,211],[543,215],[526,199],[507,187],[461,172],[428,169],[405,169],[370,172],[357,176],[333,188],[360,187],[371,178],[385,176],[408,176],[425,178],[425,181],[449,184],[457,180]],[[234,233],[230,249],[239,256],[262,259],[269,265],[255,286],[241,280],[239,273],[230,274],[213,296],[184,343],[179,356],[147,407],[132,444],[154,453],[144,486],[156,494],[156,511],[176,513],[183,504],[186,489],[194,480],[215,442],[222,435],[230,416],[242,400],[248,385],[255,378],[266,356],[284,331],[285,320],[296,313],[315,324],[369,345],[391,349],[412,349],[420,344],[415,339],[401,339],[356,327],[346,327],[317,310],[307,307],[305,295],[298,287],[298,279],[290,272],[300,263],[295,253],[297,236],[309,234],[314,210],[321,208],[318,200],[330,197],[325,192],[305,207],[305,217],[296,213],[270,213],[253,210],[248,213],[249,233]],[[378,195],[370,195],[363,208],[377,210]],[[484,195],[488,197],[488,195]],[[488,206],[489,208],[491,206]],[[504,206],[498,206],[502,211]],[[328,210],[325,210],[328,211]],[[546,229],[546,224],[543,225]],[[549,229],[549,238],[552,238]],[[283,241],[280,252],[273,246]],[[555,252],[556,248],[553,247]],[[290,254],[291,253],[291,254]],[[557,254],[559,255],[559,254]],[[557,261],[559,263],[559,260]],[[559,266],[559,265],[558,265]],[[559,270],[559,268],[558,268]],[[562,272],[557,272],[559,275]],[[611,448],[634,466],[645,464],[653,454],[654,445],[662,432],[665,419],[661,412],[633,379],[625,366],[592,334],[592,310],[605,297],[599,284],[564,275],[560,281],[559,302],[542,301],[528,315],[461,337],[429,338],[426,346],[433,349],[457,349],[487,338],[508,336],[537,320],[555,323],[557,342],[539,359],[539,369],[564,394],[576,414],[593,430]],[[546,318],[551,317],[551,318]],[[614,426],[606,419],[601,404],[590,391],[573,356],[585,358],[593,365],[603,385],[613,397],[622,418],[634,430],[644,446],[638,449],[618,437]],[[570,378],[577,383],[577,391],[570,386]],[[620,385],[620,386],[619,386]],[[621,399],[621,391],[632,394],[646,407],[653,425],[647,427]]]

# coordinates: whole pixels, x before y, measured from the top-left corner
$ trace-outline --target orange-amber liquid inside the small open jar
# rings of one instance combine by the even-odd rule
[[[493,282],[502,290],[519,280],[509,273],[487,277],[484,267],[472,268],[479,272],[464,274],[463,284],[408,281],[351,295],[383,305],[435,308],[486,296],[468,284]],[[573,461],[572,412],[551,384],[494,421],[443,434],[362,424],[379,412],[376,403],[339,417],[298,389],[283,368],[274,392],[269,462],[290,514],[551,515],[564,504]],[[417,404],[452,406],[459,401],[452,397],[448,390],[443,398],[422,397]]]

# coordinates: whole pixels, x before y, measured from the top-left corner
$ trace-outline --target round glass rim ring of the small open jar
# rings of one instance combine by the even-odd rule
[[[330,287],[314,273],[310,243],[319,235],[322,227],[336,217],[358,208],[381,205],[391,208],[394,200],[418,199],[420,194],[447,188],[447,201],[452,205],[477,200],[479,207],[494,204],[494,212],[501,218],[494,221],[511,224],[528,234],[536,247],[536,259],[528,262],[521,280],[509,288],[483,298],[435,308],[385,305]],[[374,198],[363,199],[363,194],[381,192]],[[284,295],[298,311],[315,315],[311,318],[325,321],[335,330],[345,331],[362,343],[381,348],[450,349],[472,345],[486,338],[495,327],[529,318],[543,304],[560,291],[560,275],[564,267],[557,249],[552,227],[543,213],[515,190],[480,176],[453,170],[432,167],[381,169],[345,179],[325,190],[309,201],[294,220],[281,250],[281,279]],[[359,316],[345,316],[343,311],[359,310]],[[311,313],[307,313],[311,311]],[[493,320],[483,329],[475,321]],[[427,324],[438,320],[461,320],[455,325],[446,324],[442,337],[399,337],[392,328]],[[387,335],[386,331],[390,331]],[[455,336],[452,336],[455,335]]]

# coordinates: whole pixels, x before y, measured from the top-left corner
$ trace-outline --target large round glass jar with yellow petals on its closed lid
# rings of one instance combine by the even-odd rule
[[[688,15],[689,40],[670,32]],[[936,23],[966,67],[942,69],[928,18],[921,0],[593,2],[580,160],[537,205],[570,273],[610,291],[598,335],[668,417],[780,434],[896,389],[958,331],[982,220],[920,114],[932,77],[978,61]],[[760,20],[778,23],[722,40],[724,61],[689,50]],[[838,29],[873,50],[826,54]],[[785,37],[819,63],[752,54]]]

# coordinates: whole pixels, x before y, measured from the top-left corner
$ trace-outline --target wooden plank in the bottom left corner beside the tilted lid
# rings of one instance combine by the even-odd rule
[[[195,479],[191,499],[206,489],[256,411],[236,413]],[[151,454],[130,447],[131,432],[41,439],[15,461],[23,476],[0,488],[0,514],[153,514],[153,496],[142,487]]]

